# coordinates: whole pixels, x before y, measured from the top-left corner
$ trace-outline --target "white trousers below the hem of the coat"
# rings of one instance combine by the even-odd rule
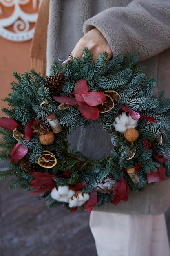
[[[164,214],[92,211],[90,228],[98,256],[170,256]]]

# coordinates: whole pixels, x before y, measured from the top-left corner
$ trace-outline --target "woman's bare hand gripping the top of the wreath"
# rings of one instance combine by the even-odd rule
[[[82,58],[84,47],[88,47],[93,56],[93,60],[96,62],[97,58],[102,52],[108,53],[108,60],[112,57],[112,51],[106,38],[102,35],[102,33],[97,29],[91,29],[85,34],[75,45],[71,54],[73,57]],[[68,58],[69,59],[69,58]],[[68,60],[67,59],[67,60]]]

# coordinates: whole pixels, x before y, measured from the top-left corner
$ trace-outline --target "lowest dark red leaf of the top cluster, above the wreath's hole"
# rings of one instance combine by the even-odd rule
[[[97,106],[89,106],[86,103],[78,102],[79,111],[82,113],[84,117],[90,120],[96,120],[99,118],[99,110]]]

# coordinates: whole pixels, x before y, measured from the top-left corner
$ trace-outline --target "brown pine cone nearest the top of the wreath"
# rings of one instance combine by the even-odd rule
[[[49,92],[52,95],[58,95],[60,94],[62,90],[62,86],[64,85],[66,81],[66,76],[63,72],[58,72],[54,74],[53,76],[49,76],[48,81],[46,81],[45,86],[49,88]]]

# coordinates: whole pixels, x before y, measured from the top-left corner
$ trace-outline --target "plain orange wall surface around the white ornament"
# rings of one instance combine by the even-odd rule
[[[0,7],[2,9],[0,19],[7,18],[13,13],[14,7],[7,8],[2,6],[1,3]],[[32,0],[28,4],[21,6],[21,8],[26,13],[37,13],[38,11],[38,9],[33,10]],[[30,25],[31,28],[34,26],[34,24]],[[12,26],[8,29],[13,31]],[[13,71],[21,74],[31,69],[30,47],[31,40],[26,42],[12,42],[0,36],[0,108],[7,106],[7,103],[4,103],[2,99],[7,97],[8,93],[11,92],[10,83],[14,81],[12,76]],[[0,111],[0,116],[5,116],[2,111]]]

